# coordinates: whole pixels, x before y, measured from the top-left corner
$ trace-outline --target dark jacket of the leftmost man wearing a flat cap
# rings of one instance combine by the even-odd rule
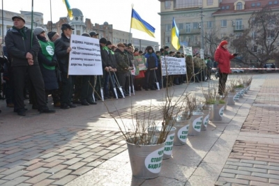
[[[33,56],[33,64],[38,65],[38,52],[40,44],[35,34],[33,34],[33,42],[31,47],[31,29],[24,28],[27,38],[24,39],[19,31],[10,28],[5,37],[6,48],[12,66],[29,65],[26,59],[27,52]]]

